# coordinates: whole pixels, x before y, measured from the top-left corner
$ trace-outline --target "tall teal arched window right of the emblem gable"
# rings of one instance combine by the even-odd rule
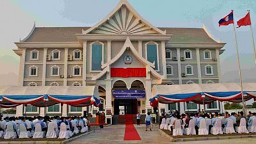
[[[147,45],[147,59],[150,62],[155,61],[155,70],[158,70],[158,61],[157,61],[157,46],[156,44]]]

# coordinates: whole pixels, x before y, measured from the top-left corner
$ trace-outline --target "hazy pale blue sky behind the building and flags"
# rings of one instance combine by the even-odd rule
[[[234,10],[234,21],[251,10],[256,36],[254,0],[128,0],[135,10],[156,27],[202,28],[205,24],[216,40],[227,43],[220,55],[222,82],[239,82],[233,27],[218,21]],[[14,42],[25,38],[34,22],[37,27],[93,26],[118,4],[119,0],[0,0],[0,85],[16,85],[19,56]],[[236,28],[242,77],[256,82],[250,28]]]

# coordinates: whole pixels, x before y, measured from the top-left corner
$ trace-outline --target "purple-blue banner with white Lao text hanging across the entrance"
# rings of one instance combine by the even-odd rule
[[[112,92],[115,99],[143,99],[145,94],[143,90],[114,90]]]

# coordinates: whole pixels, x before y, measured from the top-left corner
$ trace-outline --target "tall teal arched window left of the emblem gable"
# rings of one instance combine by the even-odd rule
[[[101,70],[102,45],[92,44],[92,70]]]

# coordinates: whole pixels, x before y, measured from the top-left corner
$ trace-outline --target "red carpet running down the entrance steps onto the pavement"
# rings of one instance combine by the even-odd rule
[[[140,135],[133,126],[132,115],[125,115],[124,140],[141,140]]]

